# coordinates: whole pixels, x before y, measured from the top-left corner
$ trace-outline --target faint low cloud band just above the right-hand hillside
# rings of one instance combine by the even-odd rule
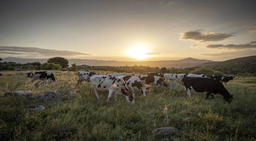
[[[221,53],[209,53],[209,54],[201,54],[211,57],[244,57],[244,56],[251,56],[255,55],[256,50],[247,49],[245,51],[227,51],[227,52],[221,52]]]

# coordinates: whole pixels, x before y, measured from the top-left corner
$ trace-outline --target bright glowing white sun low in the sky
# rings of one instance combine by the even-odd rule
[[[150,50],[145,45],[134,45],[130,48],[129,54],[130,57],[142,60],[150,57]]]

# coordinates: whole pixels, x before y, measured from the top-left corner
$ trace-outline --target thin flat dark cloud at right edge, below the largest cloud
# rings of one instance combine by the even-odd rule
[[[247,44],[241,44],[241,45],[234,45],[234,44],[216,44],[216,45],[207,45],[207,48],[210,49],[254,49],[256,48],[256,45],[252,45],[250,43]]]

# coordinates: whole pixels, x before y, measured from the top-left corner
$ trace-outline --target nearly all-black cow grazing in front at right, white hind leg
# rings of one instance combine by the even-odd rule
[[[196,92],[207,92],[205,99],[208,99],[210,95],[211,99],[213,99],[213,94],[221,94],[228,103],[233,99],[233,94],[230,94],[221,82],[210,78],[184,77],[182,84],[186,87],[189,98],[191,96],[191,89],[193,89]]]

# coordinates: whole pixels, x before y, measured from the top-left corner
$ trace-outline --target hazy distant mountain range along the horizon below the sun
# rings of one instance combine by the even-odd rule
[[[28,63],[39,61],[40,63],[46,62],[48,59],[32,59],[32,58],[4,58],[3,61],[12,61],[16,63]],[[104,61],[104,60],[90,60],[90,59],[69,59],[69,65],[76,63],[76,65],[91,65],[91,66],[134,66],[143,65],[150,67],[195,67],[202,63],[213,62],[211,60],[199,60],[195,58],[185,58],[181,60],[163,60],[163,61]]]

